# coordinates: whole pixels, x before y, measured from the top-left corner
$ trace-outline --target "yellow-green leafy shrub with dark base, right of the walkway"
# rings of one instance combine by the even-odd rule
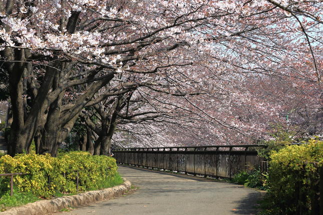
[[[269,185],[275,214],[310,214],[318,198],[319,168],[323,164],[323,141],[289,145],[270,154]],[[313,199],[311,197],[314,196]],[[315,197],[316,196],[316,197]]]

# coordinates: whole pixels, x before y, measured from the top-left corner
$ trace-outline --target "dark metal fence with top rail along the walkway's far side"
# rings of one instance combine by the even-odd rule
[[[210,145],[185,147],[116,148],[119,163],[174,170],[204,176],[228,177],[260,167],[256,147],[267,145]]]

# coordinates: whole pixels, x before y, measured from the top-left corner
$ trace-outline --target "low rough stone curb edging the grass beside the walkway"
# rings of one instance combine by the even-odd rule
[[[60,211],[61,209],[67,207],[76,207],[83,204],[93,203],[95,201],[107,200],[112,197],[120,196],[130,189],[131,182],[126,178],[123,179],[124,183],[118,186],[105,188],[102,190],[88,191],[77,195],[63,196],[50,200],[39,200],[0,212],[0,215],[43,215]]]

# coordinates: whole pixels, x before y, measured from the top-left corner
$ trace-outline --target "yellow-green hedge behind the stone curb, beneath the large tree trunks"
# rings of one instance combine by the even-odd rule
[[[52,157],[50,154],[18,154],[0,157],[0,173],[23,172],[14,176],[19,191],[32,191],[44,197],[59,192],[75,192],[79,171],[79,190],[99,188],[107,178],[117,172],[116,160],[104,155],[90,155],[85,151],[72,151]],[[8,188],[9,177],[1,176],[0,188]]]

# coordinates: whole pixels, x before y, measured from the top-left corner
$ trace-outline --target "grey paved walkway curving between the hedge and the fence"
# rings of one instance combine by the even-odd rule
[[[255,214],[259,191],[211,179],[119,166],[138,189],[64,214]]]

